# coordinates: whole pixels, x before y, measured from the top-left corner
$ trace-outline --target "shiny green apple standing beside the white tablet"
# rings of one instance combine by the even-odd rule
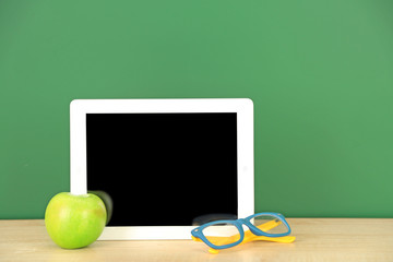
[[[106,223],[104,202],[95,194],[56,194],[45,212],[50,238],[61,248],[83,248],[94,242]]]

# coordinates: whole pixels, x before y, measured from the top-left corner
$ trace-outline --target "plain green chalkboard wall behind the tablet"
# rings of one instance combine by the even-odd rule
[[[43,218],[69,191],[72,99],[181,97],[254,102],[255,211],[393,217],[392,13],[388,0],[0,1],[0,218]]]

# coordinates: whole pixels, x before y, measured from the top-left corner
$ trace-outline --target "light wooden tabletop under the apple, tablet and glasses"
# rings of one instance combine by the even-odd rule
[[[0,221],[0,262],[9,261],[389,261],[393,262],[393,218],[288,218],[294,243],[254,241],[210,254],[192,240],[96,241],[64,250],[44,221]]]

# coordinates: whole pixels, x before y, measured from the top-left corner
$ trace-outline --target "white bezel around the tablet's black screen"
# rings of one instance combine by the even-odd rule
[[[87,192],[86,114],[236,112],[238,217],[254,212],[253,103],[248,98],[74,99],[70,105],[71,193]],[[138,211],[135,211],[138,215]],[[99,240],[190,239],[194,226],[106,227]]]

